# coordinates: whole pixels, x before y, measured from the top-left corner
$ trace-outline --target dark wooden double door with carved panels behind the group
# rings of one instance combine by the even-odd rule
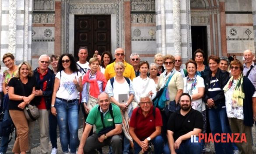
[[[75,15],[74,56],[77,57],[81,46],[88,48],[87,61],[95,50],[101,55],[111,52],[111,18],[110,15]]]

